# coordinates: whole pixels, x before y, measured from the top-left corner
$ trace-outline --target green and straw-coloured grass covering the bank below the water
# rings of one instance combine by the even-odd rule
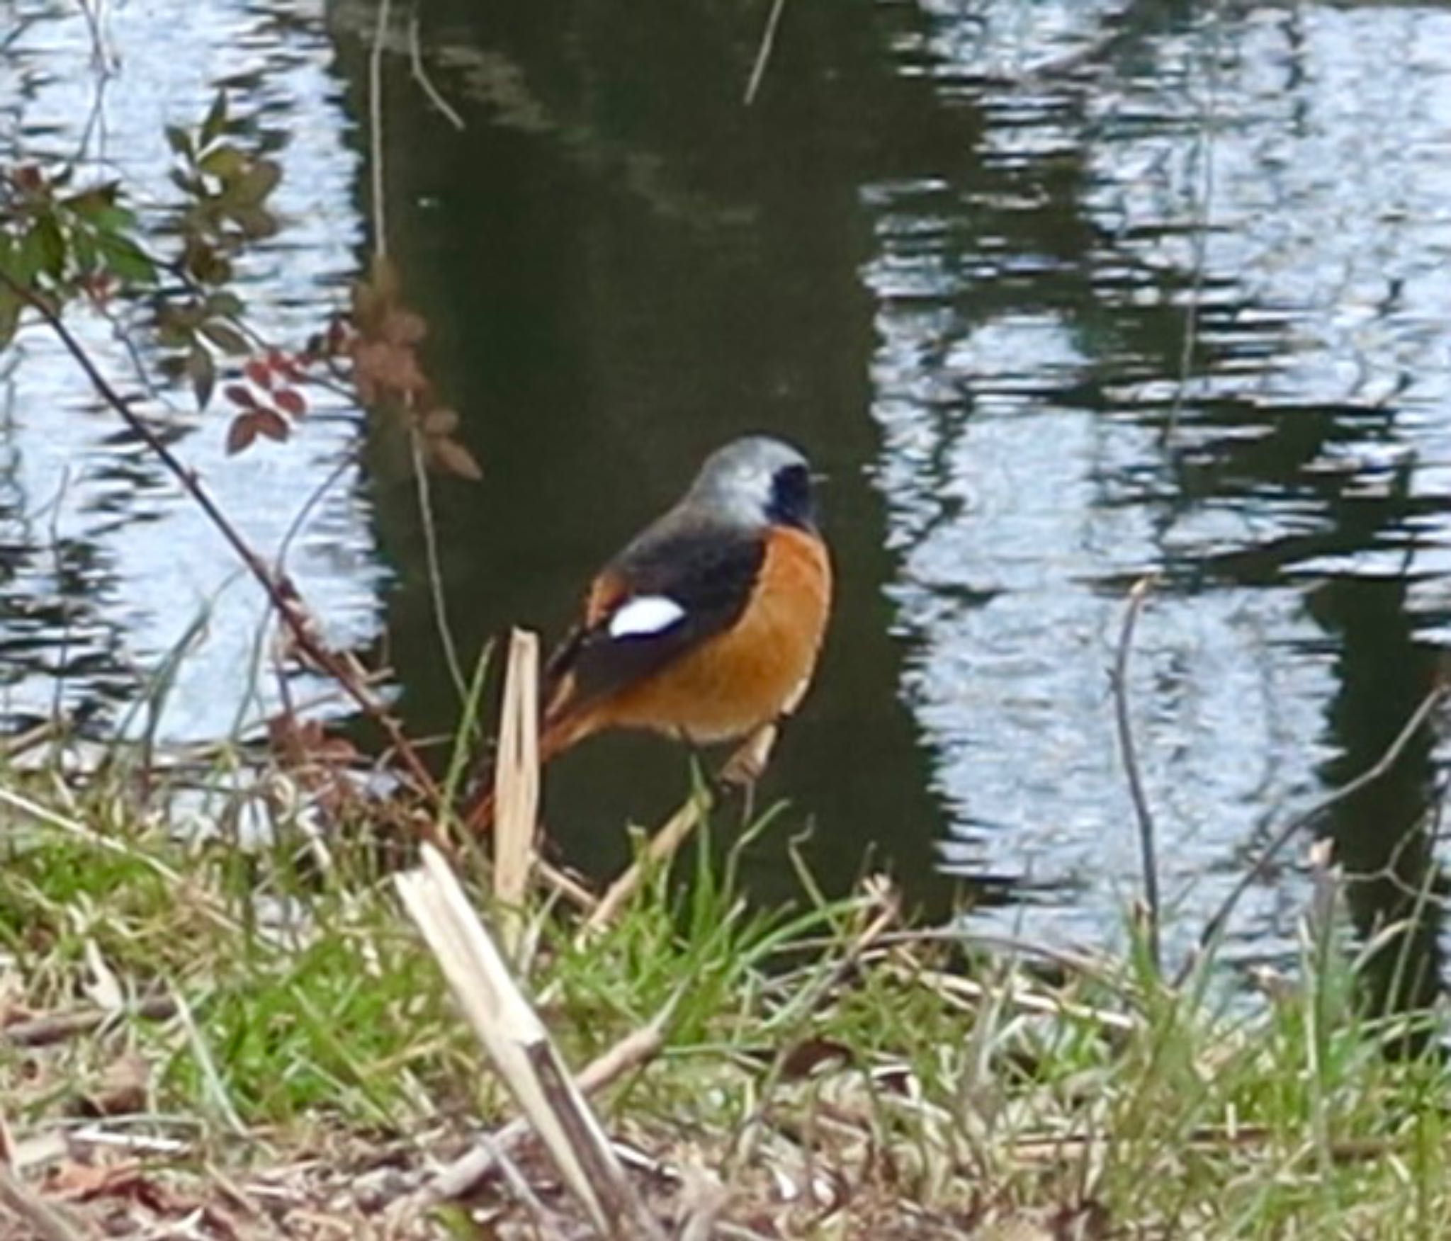
[[[350,843],[369,832],[340,827],[319,868],[287,830],[250,852],[180,837],[155,811],[164,790],[142,813],[120,788],[77,800],[54,775],[12,772],[3,787],[54,816],[3,810],[6,1028],[125,1000],[104,1026],[52,1044],[0,1033],[19,1139],[74,1132],[97,1097],[106,1113],[107,1074],[126,1057],[145,1065],[144,1105],[90,1123],[184,1134],[148,1174],[203,1196],[319,1142],[350,1177],[385,1148],[421,1168],[511,1115],[387,867]],[[1306,923],[1299,970],[1273,996],[1246,1000],[1212,961],[1171,990],[1142,952],[1056,986],[1026,957],[887,926],[876,891],[752,910],[736,882],[749,848],[749,833],[724,851],[688,846],[588,941],[541,897],[519,962],[575,1065],[669,1012],[663,1052],[599,1109],[653,1157],[721,1177],[737,1226],[1451,1235],[1451,1071],[1386,1054],[1393,1032],[1357,1010],[1335,925]],[[148,996],[176,1010],[128,1012]],[[489,1195],[515,1211],[503,1184]],[[445,1235],[443,1218],[416,1221],[419,1235]]]

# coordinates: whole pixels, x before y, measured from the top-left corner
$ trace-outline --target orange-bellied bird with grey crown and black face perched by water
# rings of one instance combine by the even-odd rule
[[[801,450],[744,435],[611,559],[544,669],[546,763],[609,729],[692,748],[755,734],[800,705],[831,613],[831,556]],[[464,813],[493,820],[492,779]]]

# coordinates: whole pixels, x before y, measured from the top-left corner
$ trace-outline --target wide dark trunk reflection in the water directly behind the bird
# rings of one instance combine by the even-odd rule
[[[432,328],[429,370],[485,470],[476,488],[435,489],[444,575],[466,650],[509,623],[556,633],[585,573],[708,449],[756,428],[801,441],[831,475],[840,598],[760,795],[789,795],[795,822],[820,823],[805,852],[829,890],[875,842],[942,913],[940,816],[897,697],[891,554],[860,470],[878,444],[859,194],[933,151],[971,163],[971,113],[945,116],[927,84],[892,73],[868,6],[788,12],[747,110],[759,35],[753,12],[663,0],[628,20],[585,4],[429,4],[422,52],[464,112],[461,134],[408,84],[406,57],[392,60],[393,253]],[[355,81],[364,46],[340,38]],[[412,489],[377,469],[373,480],[402,575],[389,620],[403,708],[419,732],[447,729],[457,703]],[[620,824],[672,807],[681,778],[673,748],[601,739],[550,772],[548,819],[573,829],[572,859],[614,865]],[[785,835],[753,859],[763,891],[794,887]]]

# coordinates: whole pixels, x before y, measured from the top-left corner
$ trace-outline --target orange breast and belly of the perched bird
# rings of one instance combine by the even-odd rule
[[[773,528],[736,626],[599,704],[588,732],[654,729],[705,745],[743,736],[805,694],[830,611],[826,546],[800,530]]]

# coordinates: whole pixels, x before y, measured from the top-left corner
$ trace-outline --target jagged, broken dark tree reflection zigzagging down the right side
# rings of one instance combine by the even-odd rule
[[[1103,476],[1100,504],[1123,504],[1127,491],[1127,502],[1156,514],[1165,531],[1204,501],[1294,507],[1294,533],[1267,543],[1207,557],[1162,553],[1167,589],[1187,595],[1216,582],[1284,588],[1286,573],[1312,557],[1393,547],[1409,524],[1432,508],[1409,498],[1406,478],[1393,480],[1376,498],[1365,495],[1367,480],[1360,472],[1325,467],[1336,449],[1394,434],[1393,409],[1370,401],[1355,404],[1364,383],[1354,389],[1351,401],[1338,405],[1297,405],[1259,393],[1223,395],[1236,390],[1246,361],[1273,360],[1286,351],[1287,329],[1297,312],[1257,305],[1238,277],[1209,276],[1194,270],[1193,263],[1165,260],[1165,254],[1203,258],[1206,205],[1178,202],[1161,208],[1161,218],[1149,222],[1151,234],[1104,228],[1098,222],[1103,212],[1091,208],[1104,173],[1101,164],[1090,165],[1090,152],[1113,150],[1111,138],[1090,141],[1104,125],[1101,109],[1094,110],[1097,87],[1142,80],[1146,70],[1162,73],[1155,42],[1165,33],[1187,33],[1194,20],[1193,6],[1130,4],[1106,20],[1101,35],[1090,36],[1084,51],[1037,68],[1030,80],[978,83],[984,99],[1020,90],[1017,106],[1039,109],[1059,141],[1042,155],[1033,154],[1032,144],[1008,144],[1007,158],[971,167],[969,177],[934,189],[930,202],[903,203],[920,210],[920,221],[940,213],[929,242],[934,261],[955,277],[972,273],[958,277],[952,293],[953,340],[1004,316],[1046,314],[1074,334],[1084,357],[1094,360],[1071,390],[1045,390],[1048,399],[1069,408],[1129,412],[1158,428],[1180,401],[1178,395],[1167,395],[1164,380],[1181,377],[1181,392],[1190,393],[1183,411],[1187,434],[1170,440],[1168,485],[1159,482],[1159,493],[1149,495],[1130,479]],[[1220,26],[1213,39],[1201,41],[1201,54],[1233,58],[1233,32],[1222,25],[1232,17],[1220,13],[1214,20]],[[1299,49],[1293,19],[1288,33]],[[969,73],[971,58],[961,51],[958,55],[962,58],[940,73]],[[1156,89],[1193,94],[1196,83],[1170,86],[1156,78]],[[1178,152],[1188,141],[1207,141],[1214,118],[1184,123],[1172,120],[1174,115],[1168,109],[1161,122],[1151,122],[1165,126],[1155,131],[1165,135],[1165,150]],[[1078,141],[1072,141],[1074,135]],[[1196,158],[1204,157],[1199,150]],[[1274,180],[1275,167],[1265,177]],[[991,216],[984,212],[982,219],[975,219],[962,206],[984,202],[1016,209]],[[1017,206],[1024,203],[1030,209]],[[1294,208],[1293,200],[1283,203],[1286,212]],[[1183,210],[1183,219],[1175,218],[1175,209]],[[992,251],[979,245],[982,235],[991,238]],[[984,269],[985,274],[977,274]],[[1383,305],[1378,311],[1389,316],[1393,308]],[[1196,334],[1191,347],[1188,332]],[[1181,373],[1185,363],[1187,373]],[[1158,386],[1149,399],[1132,395],[1142,380],[1149,382],[1149,389]],[[1199,395],[1203,392],[1212,395]],[[962,415],[961,409],[949,412]],[[955,431],[942,427],[942,434],[950,437]],[[1331,727],[1341,755],[1325,772],[1331,782],[1373,762],[1431,685],[1434,656],[1413,639],[1409,585],[1403,565],[1389,579],[1332,578],[1312,595],[1312,615],[1338,639],[1341,691],[1331,708]],[[1345,865],[1377,875],[1352,884],[1358,929],[1368,936],[1415,914],[1407,930],[1386,941],[1377,955],[1371,971],[1377,1006],[1419,1004],[1434,993],[1439,959],[1435,919],[1413,896],[1439,882],[1421,826],[1429,782],[1431,749],[1421,737],[1387,781],[1338,807],[1329,824]],[[1403,952],[1407,962],[1399,962]],[[1399,980],[1393,978],[1397,965]]]

